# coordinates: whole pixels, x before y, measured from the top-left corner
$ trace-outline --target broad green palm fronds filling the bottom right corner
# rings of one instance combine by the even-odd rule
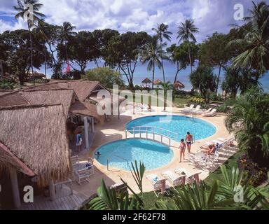
[[[268,209],[268,186],[254,188],[244,172],[234,167],[221,167],[221,177],[207,185],[193,183],[174,192],[172,200],[159,200],[158,209],[164,210],[261,210]],[[235,201],[235,194],[244,200]]]

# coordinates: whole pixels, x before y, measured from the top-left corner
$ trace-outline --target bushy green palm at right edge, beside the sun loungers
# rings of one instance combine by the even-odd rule
[[[269,145],[262,139],[268,139],[269,97],[258,88],[245,92],[237,100],[226,118],[229,132],[235,133],[240,150],[247,152],[258,165],[269,166]]]

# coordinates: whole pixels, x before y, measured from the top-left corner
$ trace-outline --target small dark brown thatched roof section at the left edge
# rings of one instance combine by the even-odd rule
[[[22,106],[29,105],[27,99],[22,97],[20,92],[12,91],[0,94],[0,108],[3,106]]]

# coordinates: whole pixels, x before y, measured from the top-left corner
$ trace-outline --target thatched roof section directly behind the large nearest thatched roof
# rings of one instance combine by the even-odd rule
[[[62,104],[64,116],[67,118],[72,99],[77,99],[74,90],[25,90],[20,92],[22,97],[32,104]]]

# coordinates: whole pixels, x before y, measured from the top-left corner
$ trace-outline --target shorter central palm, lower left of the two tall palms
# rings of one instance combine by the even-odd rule
[[[162,68],[162,62],[160,62],[160,58],[163,59],[163,50],[161,50],[161,45],[158,45],[157,38],[153,37],[153,41],[150,43],[146,43],[144,48],[142,49],[142,64],[149,62],[148,71],[153,70],[152,73],[152,89],[154,87],[154,76],[155,76],[155,66],[157,65],[159,69]]]

